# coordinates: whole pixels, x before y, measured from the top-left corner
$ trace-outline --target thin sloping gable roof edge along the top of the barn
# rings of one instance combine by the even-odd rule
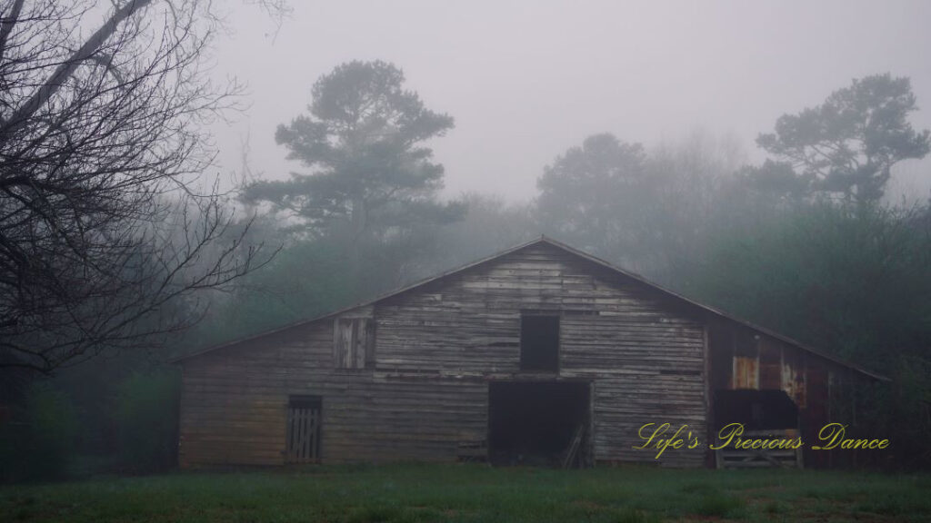
[[[834,356],[832,356],[832,355],[827,355],[827,354],[825,354],[825,353],[823,353],[823,352],[821,352],[821,351],[819,351],[819,350],[817,350],[817,349],[815,349],[815,348],[812,348],[812,347],[810,347],[810,346],[808,346],[808,345],[803,344],[802,342],[798,342],[798,341],[796,341],[796,340],[793,340],[792,338],[789,338],[788,336],[784,336],[784,335],[779,334],[778,332],[775,332],[775,331],[773,331],[773,330],[766,329],[766,328],[760,327],[760,326],[758,326],[758,325],[755,325],[755,324],[753,324],[753,323],[751,323],[751,322],[749,322],[749,321],[747,321],[747,320],[744,320],[744,319],[741,319],[741,318],[737,318],[737,317],[735,317],[735,316],[733,316],[733,315],[729,315],[729,314],[724,313],[724,312],[722,312],[722,311],[720,311],[720,310],[718,310],[718,309],[716,309],[716,308],[714,308],[714,307],[710,307],[710,306],[705,305],[705,304],[700,303],[700,302],[695,302],[695,300],[692,300],[692,299],[690,299],[690,298],[686,298],[686,297],[682,296],[681,294],[679,294],[679,293],[677,293],[677,292],[674,292],[674,291],[672,291],[672,290],[669,290],[668,288],[664,288],[664,287],[662,287],[662,286],[659,286],[659,285],[655,284],[654,282],[651,282],[651,281],[647,280],[646,278],[644,278],[644,277],[641,276],[641,275],[637,275],[637,274],[635,274],[635,273],[631,273],[630,271],[627,271],[626,269],[622,269],[622,268],[620,268],[620,267],[617,267],[616,265],[614,265],[614,264],[612,264],[612,263],[610,263],[610,262],[605,262],[604,260],[601,260],[600,258],[598,258],[598,257],[596,257],[596,256],[593,256],[593,255],[591,255],[591,254],[588,254],[588,253],[585,252],[585,251],[579,250],[579,249],[577,249],[577,248],[570,247],[570,246],[568,246],[568,245],[566,245],[566,244],[564,244],[564,243],[562,243],[562,242],[560,242],[560,241],[554,240],[553,238],[546,237],[545,235],[541,235],[540,237],[535,238],[535,239],[533,239],[533,240],[531,240],[531,241],[529,241],[529,242],[525,242],[525,243],[519,244],[519,245],[517,245],[517,246],[511,247],[511,248],[506,248],[506,249],[504,249],[504,250],[502,250],[502,251],[500,251],[500,252],[496,252],[496,253],[492,254],[491,256],[487,256],[487,257],[485,257],[485,258],[481,258],[481,259],[479,259],[479,260],[477,260],[477,261],[475,261],[475,262],[469,262],[469,263],[466,263],[465,265],[461,265],[461,266],[456,267],[456,268],[453,268],[453,269],[451,269],[451,270],[449,270],[449,271],[446,271],[446,272],[443,272],[443,273],[439,273],[439,275],[433,275],[433,276],[430,276],[430,277],[425,278],[425,279],[423,279],[423,280],[420,280],[420,281],[418,281],[418,282],[412,283],[411,285],[408,285],[408,286],[405,286],[405,287],[402,287],[402,288],[398,288],[398,289],[395,289],[395,290],[386,292],[386,293],[384,293],[384,294],[382,294],[382,295],[379,295],[379,296],[377,296],[377,297],[375,297],[375,298],[372,298],[371,300],[367,300],[367,301],[365,301],[365,302],[358,302],[358,303],[355,303],[355,304],[350,305],[350,306],[348,306],[348,307],[344,307],[344,308],[342,308],[342,309],[333,311],[333,312],[331,312],[331,313],[327,313],[327,314],[325,314],[325,315],[318,315],[318,316],[316,316],[316,317],[313,317],[313,318],[310,318],[310,319],[301,320],[301,321],[298,321],[298,322],[295,322],[295,323],[291,323],[291,324],[289,324],[289,325],[286,325],[286,326],[283,326],[283,327],[279,327],[279,328],[277,328],[277,329],[266,330],[266,331],[261,332],[261,333],[259,333],[259,334],[247,336],[247,337],[244,337],[244,338],[239,338],[239,339],[234,340],[234,341],[232,341],[232,342],[224,342],[224,343],[221,343],[221,344],[219,344],[219,345],[214,345],[214,346],[212,346],[212,347],[209,347],[209,348],[204,349],[204,350],[202,350],[202,351],[198,351],[198,352],[196,352],[196,353],[192,353],[192,354],[190,354],[190,355],[183,355],[183,356],[181,356],[181,357],[174,358],[174,359],[170,360],[170,363],[179,363],[179,362],[183,362],[183,361],[186,361],[186,360],[188,360],[188,359],[195,358],[196,356],[199,356],[199,355],[205,355],[205,354],[212,353],[212,352],[214,352],[214,351],[217,351],[217,350],[220,350],[220,349],[223,349],[223,348],[227,348],[227,347],[231,347],[231,346],[234,346],[234,345],[238,345],[238,344],[240,344],[240,343],[250,342],[250,341],[253,341],[253,340],[258,340],[258,339],[261,339],[261,338],[263,338],[263,337],[265,337],[265,336],[269,336],[269,335],[276,334],[276,333],[279,333],[279,332],[284,332],[284,331],[287,331],[287,330],[290,330],[290,329],[295,329],[295,328],[298,328],[298,327],[301,327],[301,326],[304,326],[304,325],[308,325],[308,324],[310,324],[310,323],[314,323],[314,322],[317,322],[317,321],[320,321],[320,320],[323,320],[323,319],[330,318],[330,317],[332,317],[332,316],[344,314],[344,313],[349,312],[349,311],[351,311],[351,310],[353,310],[353,309],[358,309],[359,307],[365,307],[365,306],[368,306],[368,305],[373,305],[373,304],[375,304],[375,303],[377,303],[377,302],[382,302],[382,301],[384,301],[384,300],[386,300],[386,299],[388,299],[388,298],[392,298],[392,297],[394,297],[394,296],[398,296],[399,294],[403,294],[403,293],[408,292],[408,291],[411,291],[411,290],[413,290],[413,289],[415,289],[415,288],[421,288],[421,287],[423,287],[423,286],[425,286],[425,285],[427,285],[427,284],[429,284],[429,283],[438,281],[438,280],[440,280],[440,279],[444,279],[444,278],[446,278],[446,277],[449,277],[449,276],[452,276],[452,275],[456,275],[456,274],[462,273],[462,272],[466,271],[467,269],[471,269],[471,268],[473,268],[473,267],[477,267],[477,266],[482,265],[482,264],[487,263],[487,262],[492,262],[493,260],[496,260],[496,259],[498,259],[498,258],[501,258],[501,257],[506,256],[506,255],[508,255],[508,254],[511,254],[511,253],[513,253],[513,252],[517,252],[517,251],[519,251],[519,250],[521,250],[521,249],[523,249],[523,248],[529,248],[529,247],[536,246],[536,245],[548,245],[548,246],[551,246],[551,247],[559,248],[559,249],[561,249],[561,250],[563,250],[563,251],[566,251],[566,252],[569,252],[570,254],[573,254],[575,257],[578,257],[578,258],[581,258],[581,259],[583,259],[583,260],[586,260],[587,262],[592,262],[592,263],[594,263],[594,264],[596,264],[596,265],[598,265],[598,266],[600,266],[600,267],[603,267],[603,268],[605,268],[605,269],[608,269],[608,270],[610,270],[610,271],[612,271],[612,272],[614,272],[614,273],[616,273],[616,274],[618,274],[618,275],[622,275],[622,276],[624,276],[624,277],[626,277],[626,278],[628,278],[628,279],[634,280],[634,281],[640,283],[640,284],[643,285],[643,286],[646,286],[646,287],[648,287],[648,288],[652,288],[652,289],[654,289],[655,291],[658,291],[660,294],[665,295],[665,296],[668,296],[669,298],[672,298],[674,301],[681,302],[681,303],[685,303],[685,304],[687,304],[688,306],[693,307],[693,308],[695,308],[695,309],[697,309],[697,310],[699,310],[699,311],[702,311],[702,312],[704,312],[704,313],[706,313],[706,314],[708,314],[708,315],[712,315],[712,316],[714,316],[714,317],[721,318],[721,319],[724,319],[724,320],[726,320],[726,321],[729,321],[729,322],[732,322],[732,323],[735,323],[735,324],[744,326],[744,327],[746,327],[746,328],[748,328],[748,329],[755,330],[755,331],[757,331],[757,332],[759,332],[759,333],[761,333],[761,334],[764,334],[764,335],[766,335],[766,336],[769,336],[770,338],[774,338],[774,339],[779,340],[779,341],[781,341],[781,342],[789,343],[789,345],[792,345],[792,346],[795,346],[795,347],[797,347],[797,348],[799,348],[799,349],[802,349],[802,350],[805,351],[805,352],[811,353],[811,354],[813,354],[813,355],[817,355],[817,356],[819,356],[819,357],[822,357],[822,358],[824,358],[824,359],[827,359],[827,360],[829,360],[829,361],[831,361],[831,362],[833,362],[833,363],[836,363],[836,364],[838,364],[838,365],[841,365],[841,366],[843,366],[843,367],[846,367],[846,368],[849,368],[849,369],[857,370],[857,372],[859,372],[859,373],[861,373],[861,374],[864,374],[864,375],[866,375],[866,376],[869,376],[870,378],[873,378],[873,379],[875,379],[875,380],[880,380],[880,381],[884,381],[884,382],[888,382],[888,381],[889,381],[888,378],[886,378],[886,377],[884,377],[884,376],[882,376],[882,375],[880,375],[880,374],[876,374],[876,373],[874,373],[874,372],[870,372],[870,370],[863,369],[863,368],[861,368],[861,367],[858,367],[857,365],[854,365],[854,364],[852,364],[852,363],[843,361],[842,359],[837,358],[837,357],[834,357]]]

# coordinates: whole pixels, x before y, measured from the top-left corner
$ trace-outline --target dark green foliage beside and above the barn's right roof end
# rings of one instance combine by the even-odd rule
[[[891,378],[855,391],[858,430],[890,438],[897,464],[908,467],[931,464],[928,213],[926,206],[797,202],[718,236],[692,289]]]

